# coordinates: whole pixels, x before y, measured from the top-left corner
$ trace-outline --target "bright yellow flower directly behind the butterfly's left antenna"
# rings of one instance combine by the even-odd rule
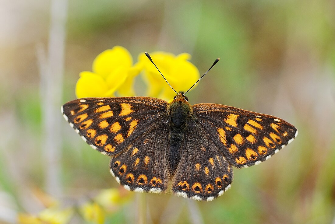
[[[191,55],[187,53],[175,56],[166,52],[153,52],[150,56],[177,92],[187,91],[199,79],[199,70],[188,61]],[[144,53],[139,55],[138,60],[144,67],[143,79],[148,86],[148,96],[169,100],[176,95]]]

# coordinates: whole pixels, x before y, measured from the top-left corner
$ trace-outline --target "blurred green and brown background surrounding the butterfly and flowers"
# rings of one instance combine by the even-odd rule
[[[148,223],[335,223],[335,2],[332,0],[0,3],[0,223],[50,204],[76,207],[101,189],[130,199],[106,223],[138,221],[139,194],[120,187],[109,158],[68,126],[81,71],[121,45],[183,52],[200,73],[188,97],[282,118],[299,135],[260,165],[235,169],[213,202],[146,194]],[[65,29],[63,29],[63,25]],[[183,74],[181,74],[183,75]],[[136,89],[143,91],[143,82]],[[177,90],[178,91],[178,90]],[[70,223],[85,223],[74,215]]]

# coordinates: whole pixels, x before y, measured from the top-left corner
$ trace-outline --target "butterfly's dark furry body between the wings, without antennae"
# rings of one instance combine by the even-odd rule
[[[180,160],[184,136],[193,118],[192,105],[186,99],[183,92],[180,92],[166,108],[167,122],[170,127],[167,153],[172,173]]]

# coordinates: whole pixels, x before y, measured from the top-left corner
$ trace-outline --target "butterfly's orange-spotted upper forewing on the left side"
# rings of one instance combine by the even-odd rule
[[[150,97],[82,98],[65,103],[62,113],[87,144],[114,155],[161,119],[166,104]]]

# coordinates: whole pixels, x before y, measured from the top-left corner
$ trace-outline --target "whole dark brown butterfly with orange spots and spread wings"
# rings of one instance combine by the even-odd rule
[[[221,104],[191,105],[185,93],[171,102],[81,98],[61,110],[87,144],[111,157],[110,173],[125,189],[161,193],[171,182],[176,196],[198,201],[227,191],[232,167],[268,160],[297,136],[293,125],[277,117]]]

